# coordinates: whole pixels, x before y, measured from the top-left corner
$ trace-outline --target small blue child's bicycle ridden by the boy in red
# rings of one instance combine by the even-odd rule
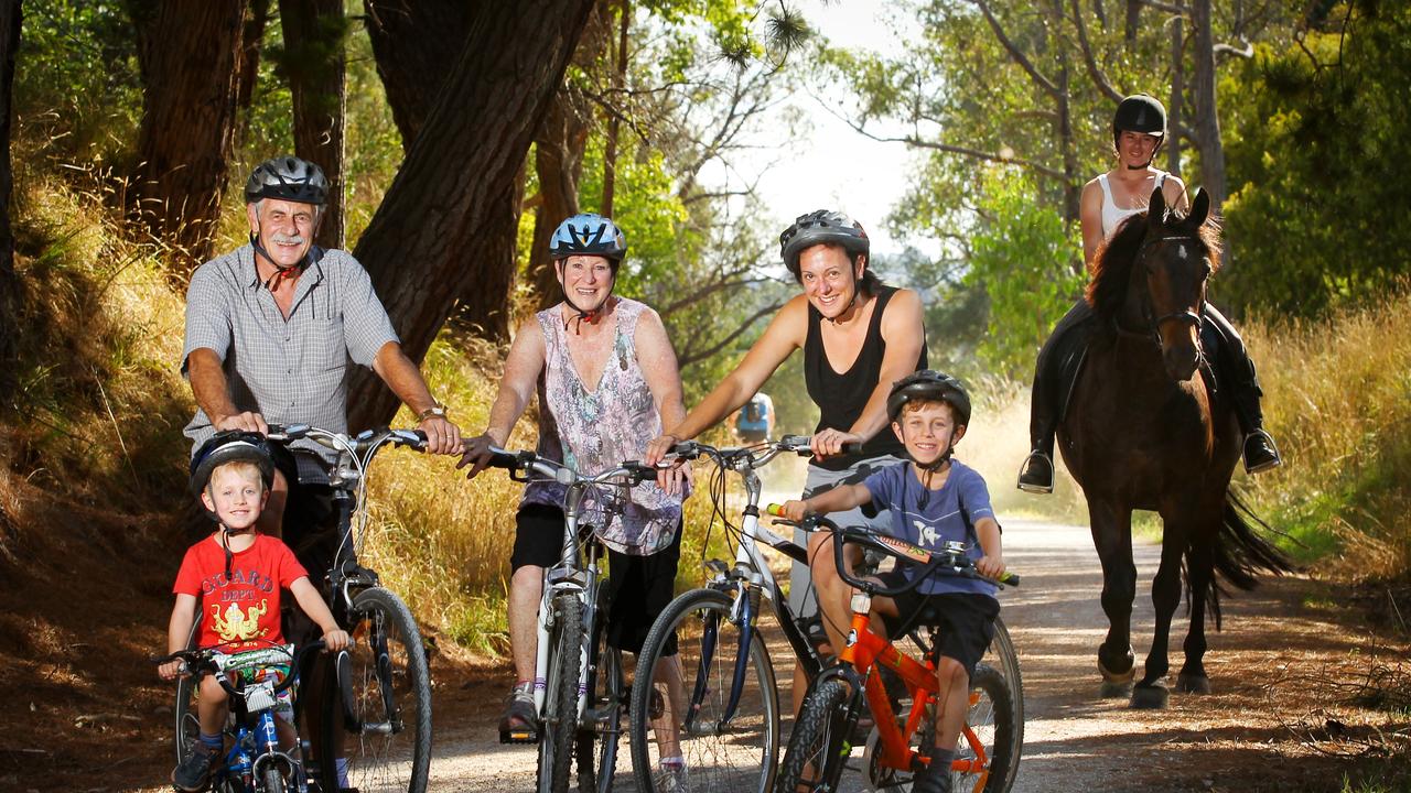
[[[181,687],[195,690],[202,674],[213,674],[230,701],[226,741],[229,749],[210,775],[210,790],[216,793],[305,793],[308,773],[303,742],[293,752],[279,748],[275,734],[275,704],[279,694],[298,680],[299,662],[323,642],[309,642],[293,652],[293,645],[224,655],[220,648],[176,650],[154,659],[157,663],[181,660]],[[284,680],[270,680],[265,670],[286,667]],[[295,701],[298,713],[298,701]],[[176,721],[176,762],[179,763],[200,739],[200,721],[195,713],[183,711]]]

